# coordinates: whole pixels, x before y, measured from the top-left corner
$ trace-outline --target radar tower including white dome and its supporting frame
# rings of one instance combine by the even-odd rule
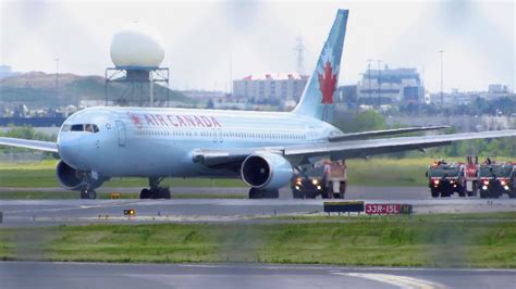
[[[114,34],[110,54],[114,67],[106,68],[106,105],[169,105],[169,68],[160,67],[164,51],[153,29],[132,23]]]

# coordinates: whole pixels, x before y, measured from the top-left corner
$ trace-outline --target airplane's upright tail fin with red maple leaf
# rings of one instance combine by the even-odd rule
[[[342,48],[346,35],[348,10],[339,10],[324,46],[322,47],[316,71],[308,79],[303,96],[294,113],[307,115],[324,122],[333,116],[333,96],[341,68]]]

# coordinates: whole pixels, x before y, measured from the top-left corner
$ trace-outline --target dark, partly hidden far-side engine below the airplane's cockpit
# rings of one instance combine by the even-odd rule
[[[69,190],[82,190],[88,185],[89,189],[96,189],[107,180],[107,178],[100,177],[93,179],[89,172],[77,171],[63,161],[59,162],[56,173],[61,185]]]

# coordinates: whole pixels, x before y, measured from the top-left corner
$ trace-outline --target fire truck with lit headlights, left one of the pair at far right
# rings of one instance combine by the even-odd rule
[[[451,197],[455,192],[466,197],[466,165],[464,163],[434,162],[427,171],[432,198]]]

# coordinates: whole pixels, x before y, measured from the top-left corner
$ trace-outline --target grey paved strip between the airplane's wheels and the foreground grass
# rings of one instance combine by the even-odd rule
[[[0,226],[91,223],[251,222],[278,215],[321,214],[328,200],[13,200],[0,201]],[[516,212],[515,199],[367,200],[411,204],[416,214]],[[134,209],[136,216],[124,216]]]

